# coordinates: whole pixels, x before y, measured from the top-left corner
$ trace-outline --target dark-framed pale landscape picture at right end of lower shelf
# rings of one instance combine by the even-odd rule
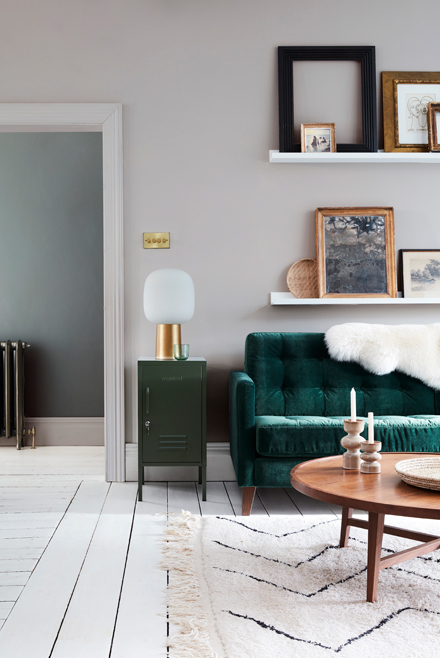
[[[440,249],[401,249],[404,297],[440,297]]]

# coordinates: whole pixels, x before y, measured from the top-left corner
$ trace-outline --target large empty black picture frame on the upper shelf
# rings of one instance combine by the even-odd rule
[[[301,151],[293,136],[293,62],[355,61],[361,64],[361,144],[337,144],[340,153],[377,152],[376,49],[374,46],[279,46],[278,108],[280,153]]]

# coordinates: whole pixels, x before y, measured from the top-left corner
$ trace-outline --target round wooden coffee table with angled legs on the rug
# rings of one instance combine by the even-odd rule
[[[348,544],[350,526],[368,530],[367,601],[376,601],[380,569],[440,548],[440,537],[384,525],[385,514],[440,519],[440,491],[412,487],[394,470],[394,464],[402,459],[429,456],[431,453],[426,452],[382,453],[379,474],[345,470],[341,455],[312,459],[290,472],[292,486],[301,493],[342,506],[341,548]],[[368,512],[368,521],[352,518],[353,509]],[[423,543],[381,558],[384,533]]]

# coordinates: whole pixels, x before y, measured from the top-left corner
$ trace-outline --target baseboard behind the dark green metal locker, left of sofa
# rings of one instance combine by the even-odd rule
[[[208,443],[206,456],[206,479],[208,481],[236,479],[229,454],[229,443]],[[146,482],[194,482],[199,477],[197,466],[146,466],[144,471]],[[125,444],[125,473],[127,482],[137,482],[137,443]]]

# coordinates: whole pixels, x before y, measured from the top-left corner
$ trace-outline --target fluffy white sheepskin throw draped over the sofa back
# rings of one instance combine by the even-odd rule
[[[349,322],[331,327],[325,342],[336,361],[354,361],[376,375],[399,370],[440,389],[440,324]]]

